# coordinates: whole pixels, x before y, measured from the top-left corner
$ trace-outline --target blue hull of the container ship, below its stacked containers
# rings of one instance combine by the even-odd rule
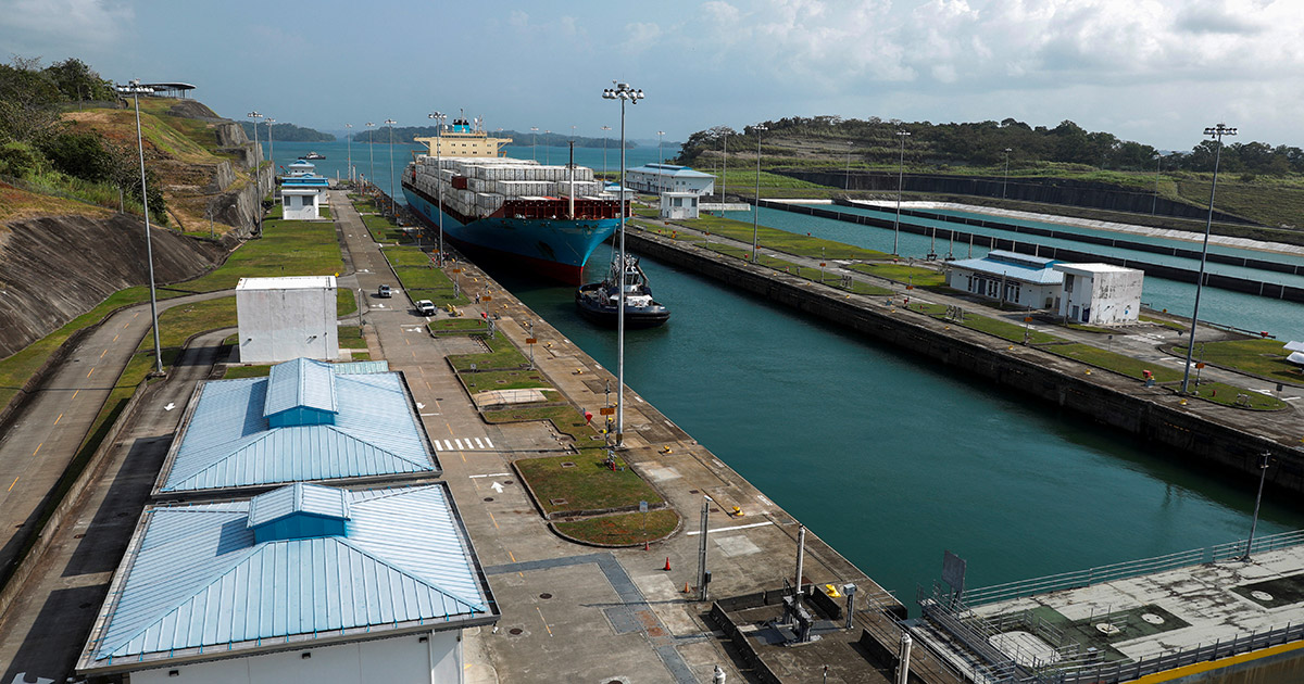
[[[459,248],[519,261],[550,278],[579,284],[589,254],[619,227],[619,219],[486,218],[462,223],[425,193],[403,184],[408,207],[430,227],[443,214],[443,236]]]

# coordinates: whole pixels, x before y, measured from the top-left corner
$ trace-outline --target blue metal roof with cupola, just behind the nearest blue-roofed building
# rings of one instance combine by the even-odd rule
[[[299,358],[196,390],[155,496],[441,474],[403,377]]]

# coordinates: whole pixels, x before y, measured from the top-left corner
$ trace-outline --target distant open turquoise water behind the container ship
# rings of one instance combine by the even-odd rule
[[[262,143],[263,154],[270,154],[271,149],[267,145],[266,126],[258,129],[258,134],[262,138],[258,141]],[[383,132],[381,133],[383,135]],[[378,138],[378,139],[385,139]],[[300,156],[316,151],[318,154],[326,155],[326,159],[314,160],[313,164],[317,167],[317,173],[326,176],[329,178],[347,178],[348,177],[348,160],[352,155],[353,168],[357,173],[372,178],[376,185],[390,192],[390,152],[391,146],[386,143],[377,145],[364,145],[364,143],[347,143],[346,141],[335,142],[276,142],[275,145],[275,162],[276,173],[284,173],[286,165],[293,163]],[[403,173],[403,168],[407,167],[408,162],[412,160],[412,154],[425,152],[424,145],[412,143],[399,143],[395,141],[393,146],[394,160],[393,168],[395,175],[394,193],[398,195],[399,203],[403,203],[403,189],[399,188],[396,176]],[[537,146],[531,147],[529,145],[518,146],[509,145],[503,147],[507,156],[514,156],[516,159],[539,159],[539,163],[552,163],[552,164],[565,164],[569,160],[570,150],[567,147],[546,147]],[[670,146],[664,149],[666,155],[672,155]],[[625,164],[627,167],[636,167],[647,164],[649,162],[657,160],[656,147],[634,147],[625,151]],[[589,167],[593,171],[601,172],[604,168],[602,163],[602,149],[601,147],[576,147],[575,149],[575,163],[582,167]],[[606,150],[606,168],[608,171],[615,172],[621,168],[621,150],[617,145],[613,145]]]

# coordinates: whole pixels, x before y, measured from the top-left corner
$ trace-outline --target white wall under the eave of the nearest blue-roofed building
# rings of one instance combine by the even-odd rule
[[[426,637],[422,641],[421,637]],[[176,672],[172,675],[171,672]],[[378,677],[378,674],[383,676]],[[462,681],[460,632],[436,632],[132,672],[132,684]]]

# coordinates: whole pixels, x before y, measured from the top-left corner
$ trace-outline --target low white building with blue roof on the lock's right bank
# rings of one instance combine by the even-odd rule
[[[994,249],[981,259],[951,262],[947,285],[1026,309],[1059,306],[1064,274],[1055,259]]]

